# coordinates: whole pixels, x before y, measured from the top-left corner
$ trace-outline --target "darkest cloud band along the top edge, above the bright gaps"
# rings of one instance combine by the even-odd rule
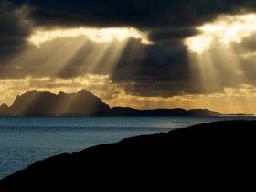
[[[46,26],[195,26],[219,14],[236,14],[254,0],[13,0],[30,5],[37,25]]]

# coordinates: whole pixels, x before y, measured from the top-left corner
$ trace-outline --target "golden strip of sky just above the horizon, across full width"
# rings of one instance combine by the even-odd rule
[[[91,91],[102,101],[111,107],[123,106],[137,109],[156,108],[184,108],[195,109],[207,108],[222,113],[255,113],[255,106],[248,102],[256,102],[256,88],[251,85],[241,85],[240,88],[225,87],[223,93],[182,95],[169,98],[143,97],[127,94],[123,88],[112,83],[106,75],[86,75],[73,79],[50,79],[50,78],[24,78],[18,80],[0,80],[1,90],[0,102],[11,105],[16,95],[26,91],[37,89],[37,91],[50,91],[59,94],[59,91],[67,93],[77,92],[81,89]],[[219,104],[221,103],[221,104]],[[69,109],[71,103],[63,104],[63,111]],[[29,103],[27,103],[29,105]],[[240,106],[243,106],[242,108]],[[60,110],[60,109],[59,109]]]

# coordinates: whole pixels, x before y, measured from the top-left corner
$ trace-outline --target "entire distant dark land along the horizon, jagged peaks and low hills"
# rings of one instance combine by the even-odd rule
[[[0,106],[2,116],[220,116],[219,112],[207,109],[155,109],[136,110],[114,107],[102,102],[90,91],[58,95],[50,92],[27,91],[17,96],[9,107]]]

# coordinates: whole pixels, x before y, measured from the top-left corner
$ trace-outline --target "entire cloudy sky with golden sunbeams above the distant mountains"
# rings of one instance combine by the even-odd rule
[[[256,1],[0,0],[0,104],[81,89],[111,107],[256,114]]]

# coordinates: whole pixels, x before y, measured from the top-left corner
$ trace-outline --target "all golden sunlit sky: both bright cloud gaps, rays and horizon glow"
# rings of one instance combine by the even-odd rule
[[[231,43],[240,43],[242,38],[250,37],[256,32],[256,15],[219,16],[212,23],[197,27],[197,29],[201,31],[201,34],[187,38],[184,43],[190,50],[188,55],[191,73],[199,74],[198,83],[201,83],[205,91],[200,95],[161,98],[134,96],[126,93],[123,90],[125,86],[112,83],[110,75],[123,55],[123,50],[130,38],[138,39],[140,42],[130,46],[133,55],[131,62],[136,62],[135,58],[144,54],[143,44],[151,43],[147,34],[132,27],[80,27],[37,29],[27,39],[34,46],[24,49],[11,59],[5,65],[6,69],[3,70],[5,74],[8,74],[18,73],[19,69],[27,69],[28,73],[31,71],[30,73],[35,74],[35,77],[43,78],[27,76],[24,79],[0,80],[0,94],[2,95],[0,103],[7,102],[10,105],[17,94],[33,89],[51,91],[56,94],[59,91],[70,93],[86,89],[112,107],[208,108],[223,113],[256,113],[255,107],[250,104],[256,102],[256,88],[239,84],[246,79],[240,59],[255,57],[256,52],[237,54],[231,46]],[[75,65],[79,69],[78,76],[65,79],[53,78],[59,77],[59,72],[62,70],[69,70],[66,67],[69,67],[70,63],[74,64],[73,59],[75,62],[80,62]],[[104,69],[105,75],[95,75],[98,69]],[[234,78],[233,73],[239,75]],[[237,81],[237,87],[224,86],[221,81],[223,74],[229,74],[229,77],[225,78],[226,81]],[[211,89],[219,87],[223,88],[222,92],[209,93]],[[65,111],[71,104],[66,103],[62,110]]]

